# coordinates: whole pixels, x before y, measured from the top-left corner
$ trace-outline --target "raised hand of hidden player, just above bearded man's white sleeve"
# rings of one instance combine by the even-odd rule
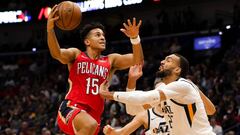
[[[142,74],[142,65],[137,64],[130,67],[128,72],[128,78],[132,80],[138,80],[142,76]]]

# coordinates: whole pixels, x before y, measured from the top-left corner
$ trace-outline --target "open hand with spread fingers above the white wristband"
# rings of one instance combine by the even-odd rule
[[[134,17],[132,22],[128,19],[127,23],[123,23],[124,28],[121,28],[120,31],[122,31],[127,37],[134,39],[139,35],[139,27],[141,24],[142,20],[137,24],[136,18]]]

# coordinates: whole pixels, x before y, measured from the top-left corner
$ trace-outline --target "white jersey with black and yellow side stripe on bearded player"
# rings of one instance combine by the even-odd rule
[[[162,103],[166,121],[172,121],[171,135],[215,135],[200,97],[199,88],[191,81],[180,78],[159,86],[166,95]]]

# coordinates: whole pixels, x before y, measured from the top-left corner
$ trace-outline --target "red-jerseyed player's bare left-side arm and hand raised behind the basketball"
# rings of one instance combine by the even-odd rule
[[[76,57],[76,53],[79,51],[76,48],[61,49],[54,31],[55,21],[59,19],[59,16],[56,16],[58,12],[57,5],[55,5],[49,14],[47,21],[47,41],[48,48],[51,56],[54,59],[59,60],[63,64],[68,64],[73,61]]]

